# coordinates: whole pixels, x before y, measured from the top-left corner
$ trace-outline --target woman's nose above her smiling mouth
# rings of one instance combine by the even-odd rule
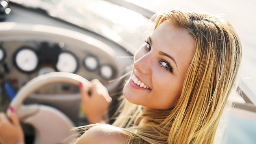
[[[143,74],[150,74],[150,63],[151,61],[147,54],[143,55],[142,57],[134,57],[134,69]]]

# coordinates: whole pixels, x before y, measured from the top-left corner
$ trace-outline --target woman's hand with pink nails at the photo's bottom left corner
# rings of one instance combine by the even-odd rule
[[[9,118],[0,112],[0,144],[24,144],[24,134],[14,109],[9,109]]]

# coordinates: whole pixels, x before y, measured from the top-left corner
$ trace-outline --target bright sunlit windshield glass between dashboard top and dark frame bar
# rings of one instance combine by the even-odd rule
[[[43,9],[60,18],[121,44],[135,53],[146,38],[148,18],[106,0],[11,0],[17,4]]]

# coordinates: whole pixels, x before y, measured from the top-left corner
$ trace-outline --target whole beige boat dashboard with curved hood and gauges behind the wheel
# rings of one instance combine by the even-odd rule
[[[11,10],[9,17],[0,22],[1,111],[28,81],[58,71],[78,74],[89,81],[99,79],[116,105],[132,68],[131,52],[108,37],[40,11],[15,4]],[[71,84],[41,87],[24,103],[50,105],[76,126],[88,124],[81,111],[79,88]]]

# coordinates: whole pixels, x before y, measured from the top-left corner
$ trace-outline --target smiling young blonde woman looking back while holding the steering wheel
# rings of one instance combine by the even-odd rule
[[[152,21],[154,30],[134,55],[113,126],[86,126],[91,128],[76,144],[213,143],[228,96],[236,88],[241,61],[237,33],[226,20],[203,13],[171,11]],[[87,87],[81,84],[80,89],[91,123],[103,121],[98,115],[110,102],[106,88],[93,83],[90,97]],[[12,115],[9,127],[16,127],[17,135],[11,137],[22,141]],[[1,129],[0,138],[7,141]]]

